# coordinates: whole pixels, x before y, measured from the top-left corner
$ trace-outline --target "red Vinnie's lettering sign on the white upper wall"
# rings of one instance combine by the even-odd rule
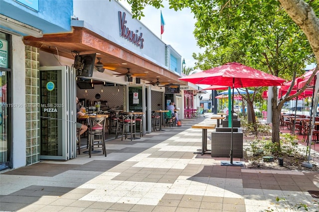
[[[125,20],[126,13],[119,11],[119,25],[120,25],[120,36],[124,37],[128,41],[132,42],[136,46],[139,46],[141,49],[144,47],[144,38],[142,38],[143,33],[141,32],[139,35],[137,34],[139,30],[131,30],[129,27],[127,27],[125,24],[127,23],[127,20]]]

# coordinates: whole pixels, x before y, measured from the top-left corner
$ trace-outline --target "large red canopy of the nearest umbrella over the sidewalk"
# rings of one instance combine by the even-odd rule
[[[267,74],[236,62],[226,63],[222,66],[179,79],[193,84],[219,85],[234,88],[278,86],[286,81],[280,77]]]

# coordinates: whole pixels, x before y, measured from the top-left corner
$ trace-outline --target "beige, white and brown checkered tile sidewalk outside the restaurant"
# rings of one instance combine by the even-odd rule
[[[0,174],[0,210],[27,212],[259,212],[318,199],[319,173],[221,166],[194,154],[210,118],[186,119],[141,139],[107,141],[102,153],[42,161]],[[208,130],[208,148],[210,132]],[[240,159],[234,158],[234,161]],[[285,201],[276,202],[276,197]],[[309,211],[319,210],[318,205]]]

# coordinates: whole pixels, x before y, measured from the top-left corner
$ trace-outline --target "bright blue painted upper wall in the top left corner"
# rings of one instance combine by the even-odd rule
[[[73,0],[38,0],[39,11],[14,0],[0,0],[0,14],[42,30],[43,34],[71,31]]]

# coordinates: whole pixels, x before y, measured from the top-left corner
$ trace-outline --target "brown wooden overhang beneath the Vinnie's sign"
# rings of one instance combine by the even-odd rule
[[[97,57],[101,58],[102,63],[118,64],[115,72],[125,74],[128,71],[127,68],[130,68],[130,72],[134,74],[149,72],[146,76],[140,77],[143,80],[156,82],[157,78],[160,78],[161,82],[187,85],[185,81],[178,80],[180,76],[173,72],[83,27],[73,27],[71,33],[46,34],[41,38],[25,36],[23,42],[25,45],[70,59],[74,59],[74,52],[79,52],[81,55],[99,53]]]

